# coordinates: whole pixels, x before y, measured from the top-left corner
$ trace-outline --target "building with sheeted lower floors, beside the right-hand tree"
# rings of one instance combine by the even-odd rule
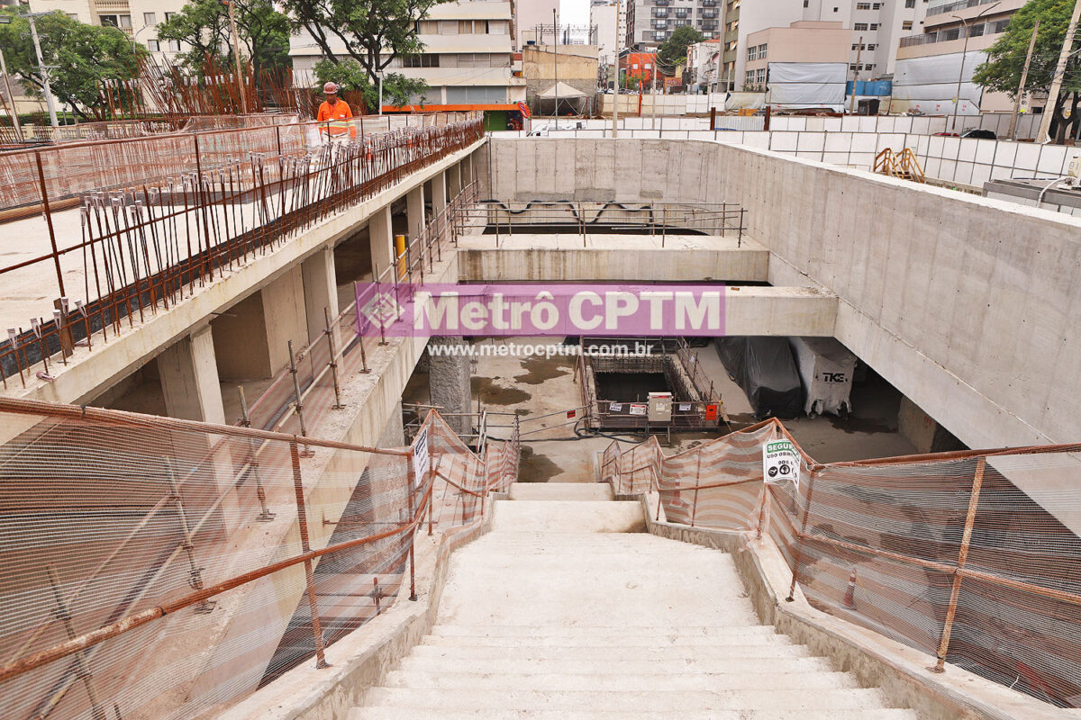
[[[923,31],[898,42],[892,109],[953,114],[953,98],[959,97],[959,116],[1011,111],[1013,100],[1009,95],[983,92],[972,82],[972,76],[987,59],[987,49],[1005,31],[1010,17],[1026,1],[931,0]]]

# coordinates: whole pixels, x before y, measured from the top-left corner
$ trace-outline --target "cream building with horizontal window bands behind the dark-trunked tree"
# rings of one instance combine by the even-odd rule
[[[428,109],[513,109],[525,99],[525,82],[511,72],[511,9],[509,1],[488,0],[435,5],[418,21],[424,51],[396,57],[385,71],[423,79],[429,90],[413,101],[423,99]],[[332,44],[332,49],[344,55],[344,47]],[[293,36],[289,53],[294,82],[313,83],[312,69],[321,54],[311,37],[303,30]]]

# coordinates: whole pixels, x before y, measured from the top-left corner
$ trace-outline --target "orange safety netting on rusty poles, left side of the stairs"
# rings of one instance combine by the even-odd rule
[[[408,596],[414,534],[478,521],[517,463],[435,412],[427,453],[14,399],[0,427],[4,718],[235,702]]]

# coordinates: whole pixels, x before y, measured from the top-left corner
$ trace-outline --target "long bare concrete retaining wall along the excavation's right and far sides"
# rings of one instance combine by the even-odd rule
[[[742,204],[771,282],[837,294],[835,336],[970,447],[1081,436],[1081,219],[732,145],[493,146],[501,199]]]

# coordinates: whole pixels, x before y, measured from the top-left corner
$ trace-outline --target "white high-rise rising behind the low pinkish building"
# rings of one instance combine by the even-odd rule
[[[966,0],[967,1],[967,0]],[[749,36],[793,23],[840,23],[849,29],[849,70],[864,80],[894,71],[900,37],[923,27],[929,0],[728,0],[723,6],[722,84],[739,90],[757,59]],[[756,67],[756,80],[757,80]]]

